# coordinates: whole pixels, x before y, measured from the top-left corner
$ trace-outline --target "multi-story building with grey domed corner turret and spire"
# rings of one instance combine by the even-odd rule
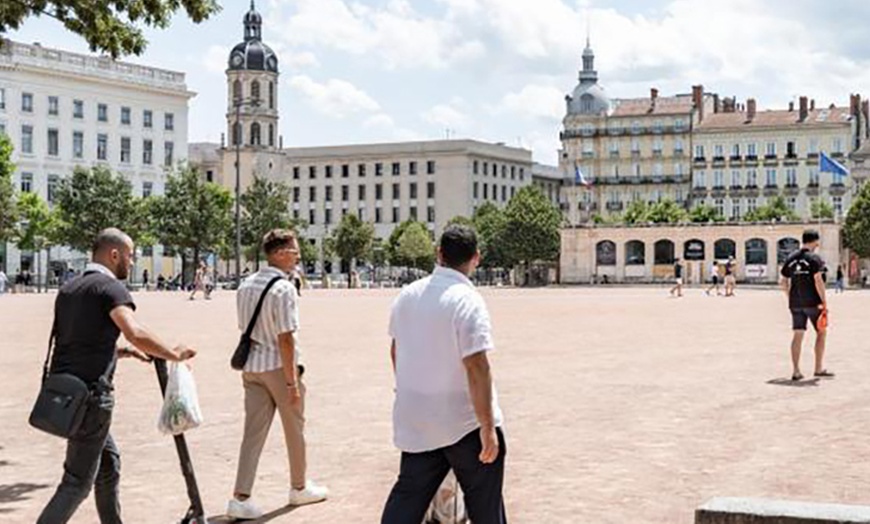
[[[565,97],[559,166],[566,176],[562,207],[572,224],[622,213],[635,200],[685,203],[691,175],[691,133],[716,96],[692,94],[610,99],[598,84],[587,42],[579,84]],[[579,170],[591,187],[575,183]]]

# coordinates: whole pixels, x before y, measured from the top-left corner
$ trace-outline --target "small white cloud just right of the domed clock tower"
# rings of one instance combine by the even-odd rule
[[[365,91],[346,80],[330,79],[319,84],[305,75],[290,79],[290,87],[301,94],[316,111],[332,118],[380,110],[380,104]]]

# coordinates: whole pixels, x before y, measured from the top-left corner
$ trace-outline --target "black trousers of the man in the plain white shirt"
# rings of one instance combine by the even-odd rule
[[[438,487],[450,469],[465,493],[465,507],[474,524],[507,524],[502,499],[507,448],[497,429],[498,459],[480,462],[480,430],[456,444],[424,453],[402,453],[399,479],[387,500],[381,524],[420,524]]]

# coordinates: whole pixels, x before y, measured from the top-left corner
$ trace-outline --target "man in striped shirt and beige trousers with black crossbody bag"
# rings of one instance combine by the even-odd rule
[[[268,267],[246,278],[236,296],[239,329],[244,331],[266,286],[275,278],[279,279],[263,301],[263,309],[251,333],[251,353],[242,373],[245,435],[235,493],[227,506],[227,515],[236,519],[263,516],[263,511],[250,497],[260,453],[276,409],[284,426],[290,461],[290,505],[320,502],[328,495],[325,487],[305,476],[305,384],[297,344],[299,303],[296,287],[288,279],[299,260],[299,243],[292,231],[276,229],[263,238],[263,251]]]

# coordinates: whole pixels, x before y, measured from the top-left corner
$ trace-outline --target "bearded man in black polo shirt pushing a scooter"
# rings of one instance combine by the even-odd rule
[[[147,354],[182,361],[196,355],[184,345],[171,349],[138,322],[133,297],[121,282],[127,278],[132,261],[130,237],[118,229],[106,229],[94,242],[93,262],[82,276],[61,288],[55,301],[55,349],[50,372],[79,377],[90,384],[92,398],[81,427],[67,442],[60,486],[37,524],[67,522],[92,486],[100,522],[121,522],[120,455],[109,434],[117,358],[148,360]],[[121,333],[138,349],[117,349]]]

